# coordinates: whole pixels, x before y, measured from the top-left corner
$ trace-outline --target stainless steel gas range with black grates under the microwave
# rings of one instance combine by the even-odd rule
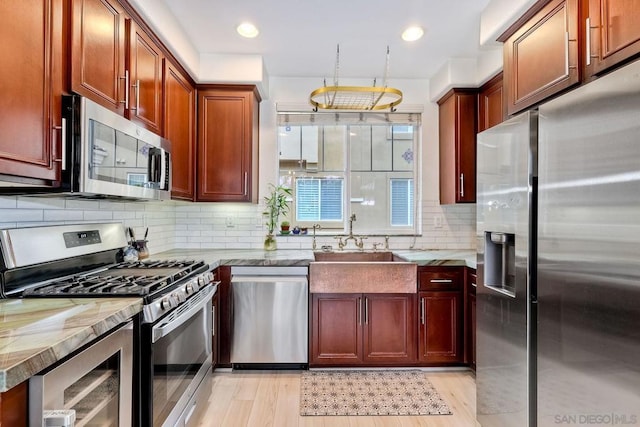
[[[117,223],[0,230],[2,296],[142,298],[133,387],[121,391],[133,401],[132,424],[194,424],[210,391],[218,283],[204,261],[121,261],[126,246]]]

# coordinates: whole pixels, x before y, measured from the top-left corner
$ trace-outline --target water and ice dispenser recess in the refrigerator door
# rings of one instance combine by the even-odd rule
[[[484,285],[515,297],[515,234],[486,231]]]

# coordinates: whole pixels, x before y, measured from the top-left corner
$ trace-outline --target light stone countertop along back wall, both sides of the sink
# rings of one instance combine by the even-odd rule
[[[473,249],[447,250],[391,250],[406,261],[418,266],[459,265],[476,268]],[[152,259],[202,259],[212,267],[220,265],[308,266],[313,251],[284,249],[263,251],[257,249],[173,249],[152,255]]]

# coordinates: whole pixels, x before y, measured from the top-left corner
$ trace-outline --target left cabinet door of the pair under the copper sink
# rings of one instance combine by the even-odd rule
[[[359,365],[362,294],[312,294],[310,365]]]

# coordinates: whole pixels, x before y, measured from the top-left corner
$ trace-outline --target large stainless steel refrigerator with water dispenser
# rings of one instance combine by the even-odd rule
[[[640,425],[640,62],[477,155],[478,421]]]

